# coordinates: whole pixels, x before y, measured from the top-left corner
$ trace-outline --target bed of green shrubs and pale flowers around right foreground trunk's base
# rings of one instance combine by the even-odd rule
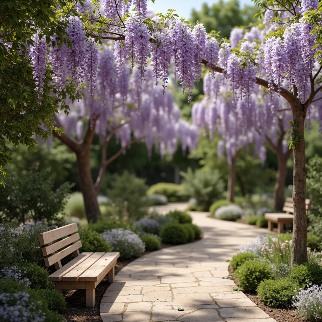
[[[230,266],[240,287],[255,292],[265,305],[297,308],[299,316],[317,321],[322,318],[322,253],[308,248],[308,262],[291,266],[291,246],[290,232],[258,236],[233,256]]]

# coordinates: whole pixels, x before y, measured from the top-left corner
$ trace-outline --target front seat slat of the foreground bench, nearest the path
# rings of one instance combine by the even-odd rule
[[[118,259],[118,252],[106,253],[95,264],[86,270],[79,277],[80,281],[93,281],[96,282],[102,276],[104,277],[112,267],[112,264]]]

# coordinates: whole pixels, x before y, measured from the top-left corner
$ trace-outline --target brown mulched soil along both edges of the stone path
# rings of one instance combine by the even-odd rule
[[[172,245],[163,244],[161,248],[170,247]],[[143,255],[150,253],[146,251]],[[117,274],[124,266],[128,265],[132,260],[118,260],[115,265],[115,274]],[[232,279],[237,284],[237,281],[233,275],[233,271],[229,268],[229,273],[231,274]],[[109,287],[107,278],[104,278],[99,285],[96,287],[96,304],[94,308],[86,308],[85,304],[85,290],[66,290],[65,298],[67,301],[67,309],[62,314],[67,322],[87,322],[87,321],[96,321],[102,322],[102,319],[99,315],[99,304],[100,301]],[[270,317],[274,318],[276,321],[280,322],[309,322],[307,318],[296,316],[296,310],[289,308],[270,308],[263,303],[261,303],[260,298],[256,293],[245,293],[245,295],[251,299],[259,308],[261,308],[265,313]]]

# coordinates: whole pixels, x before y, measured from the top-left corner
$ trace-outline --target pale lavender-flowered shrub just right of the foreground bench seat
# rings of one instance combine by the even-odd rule
[[[101,235],[109,242],[112,251],[119,251],[121,260],[139,257],[145,251],[141,238],[130,230],[111,229]]]

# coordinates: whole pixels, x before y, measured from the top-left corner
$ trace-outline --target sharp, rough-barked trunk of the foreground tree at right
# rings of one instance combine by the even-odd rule
[[[293,122],[296,123],[294,130],[302,135],[299,144],[294,148],[294,170],[293,170],[293,238],[292,238],[292,260],[293,264],[302,264],[308,260],[307,254],[307,221],[305,210],[306,197],[306,168],[305,168],[305,143],[304,143],[304,121],[306,111],[296,106],[293,109]]]

